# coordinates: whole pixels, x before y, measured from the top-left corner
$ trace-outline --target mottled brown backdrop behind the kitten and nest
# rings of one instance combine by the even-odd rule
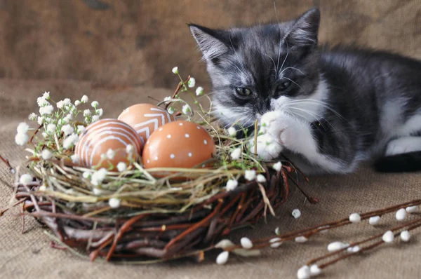
[[[279,20],[321,8],[321,42],[421,58],[420,0],[276,0]],[[0,78],[172,87],[178,65],[208,84],[187,22],[275,21],[272,0],[0,0]]]

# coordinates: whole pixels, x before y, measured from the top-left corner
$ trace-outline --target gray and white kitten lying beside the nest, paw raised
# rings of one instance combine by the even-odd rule
[[[421,62],[319,48],[319,22],[312,9],[269,25],[189,25],[207,63],[215,114],[227,126],[265,123],[260,142],[272,147],[260,144],[258,154],[266,160],[285,154],[307,173],[348,173],[363,161],[419,156]],[[408,167],[421,168],[420,161]],[[394,170],[399,161],[387,162],[379,169]]]

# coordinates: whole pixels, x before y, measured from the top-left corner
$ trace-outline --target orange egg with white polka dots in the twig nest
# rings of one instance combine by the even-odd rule
[[[205,129],[196,123],[175,121],[149,137],[142,163],[145,168],[204,168],[214,153],[215,144]]]

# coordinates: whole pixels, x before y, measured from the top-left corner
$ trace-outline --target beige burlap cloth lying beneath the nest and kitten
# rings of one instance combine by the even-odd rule
[[[105,116],[116,117],[130,104],[150,102],[147,96],[162,99],[171,92],[151,88],[92,88],[91,83],[73,81],[0,81],[0,154],[13,165],[21,165],[24,158],[13,137],[16,125],[27,114],[36,111],[36,97],[50,90],[54,98],[72,100],[88,94],[105,109]],[[25,170],[21,170],[24,172]],[[305,189],[320,199],[318,205],[304,203],[299,191],[293,192],[287,203],[254,229],[243,229],[233,234],[255,238],[269,236],[276,226],[282,232],[304,228],[320,222],[346,217],[351,212],[362,212],[386,207],[420,197],[421,174],[385,175],[363,168],[354,175],[312,177]],[[0,166],[0,207],[11,200],[13,177],[4,165]],[[302,211],[300,219],[291,217],[294,208]],[[214,263],[215,255],[203,264],[177,261],[152,266],[116,266],[102,262],[91,263],[69,252],[48,246],[50,239],[34,219],[25,218],[25,233],[21,233],[22,219],[15,208],[0,217],[0,278],[295,278],[296,270],[307,259],[326,252],[333,240],[356,240],[369,233],[380,232],[387,226],[374,229],[367,224],[348,226],[304,244],[286,243],[278,250],[265,250],[255,259],[233,258],[226,266]],[[393,218],[389,219],[394,223]],[[420,230],[419,230],[420,231]],[[420,278],[420,233],[410,243],[395,243],[381,247],[368,256],[360,256],[329,268],[325,278]]]

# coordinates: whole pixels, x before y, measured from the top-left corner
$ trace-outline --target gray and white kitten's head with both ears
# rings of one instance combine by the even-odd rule
[[[213,83],[215,116],[242,127],[272,110],[312,118],[311,109],[301,108],[310,104],[300,100],[312,97],[319,85],[319,18],[311,10],[293,22],[250,28],[190,25]]]

